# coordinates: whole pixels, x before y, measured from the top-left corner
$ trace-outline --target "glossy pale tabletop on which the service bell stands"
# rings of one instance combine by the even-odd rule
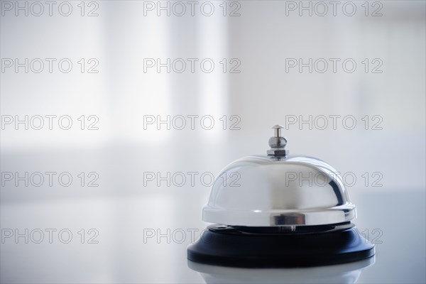
[[[210,283],[425,283],[421,190],[353,195],[359,212],[355,223],[376,244],[375,260],[293,270],[232,270],[196,263],[190,263],[194,270],[189,268],[186,247],[207,225],[200,222],[202,198],[189,197],[196,193],[182,195],[170,187],[145,195],[1,204],[2,229],[18,228],[19,234],[28,229],[28,244],[24,236],[1,244],[1,282],[204,283],[204,275]],[[44,231],[42,241],[38,229]],[[56,230],[50,230],[51,244],[48,229]]]

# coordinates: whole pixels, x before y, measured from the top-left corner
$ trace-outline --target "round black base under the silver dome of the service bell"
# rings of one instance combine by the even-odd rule
[[[214,266],[290,268],[327,266],[374,256],[356,228],[289,233],[212,225],[187,248],[190,261]]]

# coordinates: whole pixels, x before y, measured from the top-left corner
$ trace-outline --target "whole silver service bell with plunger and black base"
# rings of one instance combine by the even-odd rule
[[[342,178],[316,158],[288,155],[274,126],[268,155],[240,158],[214,181],[202,219],[208,226],[187,249],[198,263],[239,267],[320,266],[359,261],[374,246],[356,231]]]

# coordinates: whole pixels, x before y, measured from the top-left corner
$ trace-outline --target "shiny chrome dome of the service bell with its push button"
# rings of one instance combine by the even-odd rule
[[[273,126],[267,155],[239,158],[214,180],[205,222],[230,226],[313,226],[356,217],[342,177],[317,158],[288,155]]]

